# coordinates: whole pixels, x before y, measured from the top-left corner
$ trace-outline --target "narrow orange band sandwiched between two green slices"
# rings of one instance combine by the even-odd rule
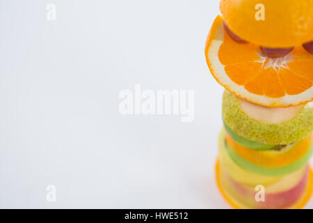
[[[225,137],[230,148],[244,160],[261,167],[284,167],[292,164],[303,157],[309,151],[312,144],[312,134],[307,138],[278,150],[256,151],[237,144],[227,132]]]

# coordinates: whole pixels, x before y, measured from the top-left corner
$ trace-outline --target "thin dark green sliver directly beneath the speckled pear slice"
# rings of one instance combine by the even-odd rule
[[[240,144],[241,146],[245,146],[247,148],[251,148],[251,149],[255,149],[259,151],[267,151],[277,146],[277,145],[262,144],[261,142],[258,142],[258,141],[245,139],[241,137],[239,134],[236,134],[236,132],[234,132],[231,128],[229,128],[226,125],[224,120],[223,120],[223,123],[224,123],[226,132],[230,135],[230,137],[232,137],[232,139],[234,139],[234,141],[236,141],[237,144]]]

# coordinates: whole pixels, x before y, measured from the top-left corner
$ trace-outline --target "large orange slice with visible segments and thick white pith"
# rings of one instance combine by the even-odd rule
[[[209,31],[205,56],[211,74],[239,98],[266,107],[290,107],[313,100],[313,54],[302,46],[271,59],[258,45],[236,43],[218,15]]]

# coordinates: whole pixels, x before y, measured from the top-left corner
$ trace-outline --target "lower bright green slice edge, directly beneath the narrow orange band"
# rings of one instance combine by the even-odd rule
[[[232,148],[230,148],[230,146],[227,144],[227,142],[225,144],[226,144],[225,147],[226,147],[228,155],[230,155],[232,160],[239,167],[245,169],[246,171],[250,171],[251,173],[261,174],[264,176],[283,176],[286,174],[290,174],[290,173],[300,169],[301,167],[304,167],[307,164],[307,162],[310,160],[310,157],[311,157],[312,152],[313,152],[313,145],[312,145],[310,147],[310,150],[307,151],[307,153],[303,157],[301,157],[299,160],[297,160],[296,162],[289,164],[287,166],[284,166],[284,167],[268,168],[268,167],[260,167],[256,164],[252,164],[251,162],[243,160],[243,158],[241,156],[236,154],[232,150]]]

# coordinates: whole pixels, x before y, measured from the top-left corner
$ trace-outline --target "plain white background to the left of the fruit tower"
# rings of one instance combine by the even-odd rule
[[[204,58],[218,13],[217,0],[0,0],[0,208],[229,208],[214,179],[223,88]],[[194,121],[122,116],[134,84],[193,89]]]

